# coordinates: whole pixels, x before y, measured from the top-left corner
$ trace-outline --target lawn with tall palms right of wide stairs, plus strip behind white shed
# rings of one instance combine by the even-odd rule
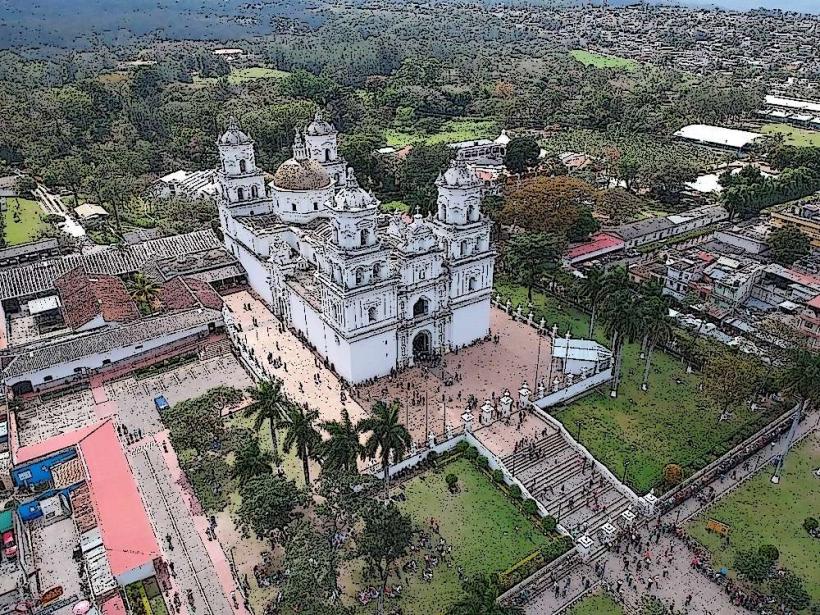
[[[512,304],[526,303],[524,288],[496,284]],[[563,334],[569,326],[573,337],[588,337],[589,318],[577,309],[561,305],[540,293],[534,296],[536,320],[543,315],[549,324],[558,323]],[[603,330],[596,327],[595,338],[609,346]],[[707,408],[698,391],[700,375],[687,374],[680,360],[656,351],[649,375],[649,391],[641,391],[643,361],[639,344],[627,344],[623,358],[623,378],[616,399],[602,387],[554,411],[573,434],[581,421],[581,443],[619,478],[639,493],[654,487],[663,467],[677,463],[684,472],[694,472],[732,447],[740,432],[751,435],[767,422],[766,416],[743,406],[731,421],[718,422],[719,412]]]

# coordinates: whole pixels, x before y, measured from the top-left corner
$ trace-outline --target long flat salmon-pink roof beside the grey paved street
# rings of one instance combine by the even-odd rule
[[[111,573],[116,578],[152,563],[159,545],[111,420],[83,438],[79,449]]]

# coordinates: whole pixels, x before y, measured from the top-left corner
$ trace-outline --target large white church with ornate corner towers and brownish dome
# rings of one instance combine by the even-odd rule
[[[435,217],[410,219],[379,211],[319,112],[267,185],[235,121],[217,144],[227,249],[342,378],[384,376],[487,335],[495,252],[463,159],[436,180]]]

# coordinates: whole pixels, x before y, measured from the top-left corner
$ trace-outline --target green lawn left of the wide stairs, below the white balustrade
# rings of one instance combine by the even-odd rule
[[[459,480],[461,490],[456,494],[450,493],[444,482],[451,472]],[[487,476],[465,459],[413,478],[405,483],[404,492],[407,500],[400,504],[401,509],[428,532],[430,517],[438,521],[441,536],[453,546],[456,565],[434,568],[429,583],[421,579],[423,566],[409,582],[403,576],[402,596],[388,601],[388,612],[399,606],[404,613],[443,613],[462,592],[457,566],[467,576],[502,572],[550,541]],[[360,563],[352,581],[357,587],[365,583]],[[366,612],[370,611],[368,606]]]

